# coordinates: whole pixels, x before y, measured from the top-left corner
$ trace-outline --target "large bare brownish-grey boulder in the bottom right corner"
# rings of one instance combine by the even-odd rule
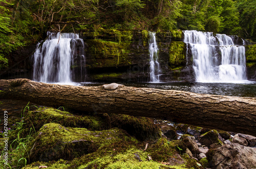
[[[256,148],[238,143],[224,145],[217,149],[209,162],[212,168],[256,168]]]

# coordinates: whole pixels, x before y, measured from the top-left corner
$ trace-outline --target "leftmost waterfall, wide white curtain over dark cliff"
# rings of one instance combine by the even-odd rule
[[[39,82],[70,83],[85,78],[84,43],[74,33],[51,33],[48,39],[37,44],[33,55],[33,80]],[[80,78],[75,76],[75,72]]]

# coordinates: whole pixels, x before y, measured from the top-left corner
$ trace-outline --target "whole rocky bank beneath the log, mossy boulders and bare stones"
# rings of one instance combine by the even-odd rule
[[[240,133],[49,107],[29,111],[22,119],[14,116],[9,123],[9,164],[16,168],[256,167],[256,137]],[[25,145],[19,158],[19,146],[12,143],[17,138]]]

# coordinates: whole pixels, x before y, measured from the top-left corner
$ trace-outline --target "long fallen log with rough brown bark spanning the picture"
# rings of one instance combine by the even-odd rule
[[[0,99],[30,101],[88,112],[167,119],[176,123],[256,136],[256,98],[176,90],[46,84],[28,79],[0,80]]]

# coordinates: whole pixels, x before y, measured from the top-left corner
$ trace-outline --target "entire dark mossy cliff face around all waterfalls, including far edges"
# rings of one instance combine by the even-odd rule
[[[149,35],[143,30],[85,30],[79,34],[84,41],[86,81],[92,82],[149,82]],[[157,32],[158,62],[161,82],[195,82],[193,58],[183,42],[182,31]],[[242,43],[242,42],[241,42]],[[238,42],[238,44],[240,44]],[[33,75],[33,61],[28,57],[35,45],[9,56],[9,70],[0,72],[1,78],[29,78]],[[248,80],[256,80],[255,45],[246,45]],[[18,59],[23,58],[23,59]],[[76,57],[74,63],[78,63]],[[79,69],[75,69],[80,82]],[[2,75],[1,75],[2,74]],[[14,76],[15,75],[15,76]]]

